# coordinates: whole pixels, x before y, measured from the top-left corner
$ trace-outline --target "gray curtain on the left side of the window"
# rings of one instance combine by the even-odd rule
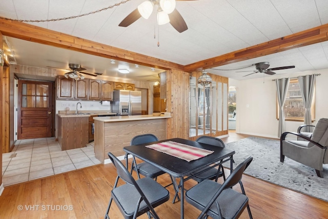
[[[290,78],[276,79],[277,98],[279,104],[278,137],[280,137],[280,135],[285,131],[285,115],[283,113],[283,106],[285,104],[289,82]]]

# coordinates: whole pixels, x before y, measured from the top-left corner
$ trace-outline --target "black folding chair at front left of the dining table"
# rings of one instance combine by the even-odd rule
[[[108,213],[113,200],[124,218],[136,218],[146,212],[149,218],[151,216],[159,218],[154,208],[169,200],[169,191],[149,177],[135,181],[128,169],[112,153],[109,152],[108,156],[116,167],[117,177],[111,191],[105,219],[109,219]],[[119,178],[126,184],[117,187]]]

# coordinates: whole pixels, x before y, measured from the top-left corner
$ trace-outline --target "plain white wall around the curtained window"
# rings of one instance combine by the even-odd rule
[[[260,73],[258,73],[260,74]],[[278,138],[278,120],[276,119],[276,85],[272,79],[297,77],[299,75],[321,74],[316,77],[315,117],[328,117],[328,69],[298,72],[289,75],[275,75],[237,81],[229,79],[229,86],[236,87],[237,119],[236,132],[263,137]],[[264,82],[264,83],[263,83]],[[303,122],[286,121],[286,130],[296,132]]]

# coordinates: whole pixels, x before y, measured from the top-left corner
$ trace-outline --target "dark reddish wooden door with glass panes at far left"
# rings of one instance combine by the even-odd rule
[[[17,138],[53,135],[53,83],[18,80]]]

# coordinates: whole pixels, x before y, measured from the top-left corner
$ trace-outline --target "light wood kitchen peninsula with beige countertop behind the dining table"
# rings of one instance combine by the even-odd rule
[[[108,152],[115,156],[125,155],[123,148],[129,146],[136,135],[151,133],[159,140],[167,138],[167,120],[171,116],[126,115],[94,118],[94,150],[96,158],[104,163]]]

